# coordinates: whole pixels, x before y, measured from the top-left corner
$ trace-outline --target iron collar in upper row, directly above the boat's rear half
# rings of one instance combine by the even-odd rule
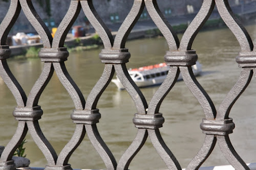
[[[167,65],[171,66],[191,66],[195,65],[198,56],[196,51],[188,50],[188,51],[167,51],[166,55],[164,56],[164,61]]]

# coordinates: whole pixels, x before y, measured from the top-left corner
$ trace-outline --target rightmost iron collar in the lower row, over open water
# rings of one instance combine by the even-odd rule
[[[224,120],[207,120],[203,119],[200,128],[203,133],[209,135],[227,135],[233,133],[235,125],[232,118]]]

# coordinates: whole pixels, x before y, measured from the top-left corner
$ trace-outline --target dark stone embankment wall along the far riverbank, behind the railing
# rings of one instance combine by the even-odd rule
[[[11,0],[9,0],[9,2],[4,2],[3,0],[0,0],[0,21],[2,21],[4,19],[3,17],[6,15],[10,1]],[[39,16],[44,21],[51,18],[50,20],[55,23],[56,27],[59,25],[62,18],[68,11],[71,0],[51,0],[50,4],[52,16],[50,17],[47,15],[45,8],[42,7],[37,0],[32,1]],[[231,6],[235,5],[236,2],[241,3],[242,1],[247,2],[255,0],[229,0]],[[133,2],[134,1],[132,0],[93,0],[97,12],[107,24],[123,21],[129,13],[130,9],[132,8]],[[202,2],[203,0],[161,0],[158,1],[158,5],[162,12],[166,15],[166,17],[171,17],[188,14],[188,5],[193,6],[194,12],[197,13],[201,7]],[[46,6],[46,4],[44,4],[43,6]],[[141,19],[150,19],[146,12],[146,9],[144,9],[144,13],[145,16]],[[83,12],[81,12],[75,25],[85,26],[84,17],[85,16]],[[35,32],[23,12],[21,12],[17,22],[14,25],[14,28],[12,29],[11,34],[15,34],[16,32]]]

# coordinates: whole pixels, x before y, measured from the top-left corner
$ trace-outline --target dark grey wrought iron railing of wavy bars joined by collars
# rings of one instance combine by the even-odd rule
[[[249,169],[234,150],[229,140],[229,134],[234,129],[234,123],[232,118],[229,118],[229,112],[246,89],[253,73],[256,71],[256,53],[253,51],[253,43],[249,34],[232,13],[227,0],[204,0],[201,10],[193,22],[190,23],[181,41],[179,41],[176,33],[159,10],[156,0],[134,0],[131,12],[123,21],[115,39],[97,15],[92,0],[70,1],[70,8],[60,23],[54,38],[52,38],[45,23],[37,15],[32,3],[31,0],[11,0],[9,11],[0,26],[0,75],[16,99],[17,107],[13,111],[13,115],[18,120],[17,130],[1,156],[0,169],[15,169],[12,155],[29,131],[48,161],[45,169],[71,169],[69,158],[87,132],[94,148],[104,161],[106,169],[128,169],[129,164],[140,151],[147,137],[150,137],[151,142],[166,166],[169,169],[180,170],[181,166],[178,160],[164,143],[159,131],[159,128],[164,123],[164,118],[162,113],[159,113],[159,108],[167,93],[175,86],[179,74],[182,74],[184,82],[196,96],[205,113],[205,119],[201,123],[201,129],[205,134],[204,143],[196,157],[191,158],[191,162],[187,165],[186,169],[198,169],[211,154],[212,150],[214,150],[217,142],[222,153],[235,169]],[[194,65],[198,59],[196,51],[192,50],[191,46],[197,33],[203,27],[215,6],[217,6],[226,25],[239,41],[241,53],[237,57],[237,62],[242,68],[239,80],[227,94],[218,109],[215,108],[208,94],[198,83],[191,69],[191,65]],[[131,56],[128,49],[125,48],[126,38],[145,7],[167,41],[169,51],[164,56],[164,59],[167,65],[170,66],[165,81],[149,104],[147,104],[142,92],[129,76],[125,65]],[[39,57],[44,62],[44,68],[28,96],[12,75],[7,64],[7,59],[11,53],[9,46],[6,45],[7,36],[21,9],[23,9],[44,44],[44,48],[41,48],[39,52]],[[98,32],[104,45],[104,49],[99,56],[105,67],[101,78],[92,89],[87,101],[84,100],[83,94],[65,67],[65,61],[69,56],[69,52],[63,46],[69,30],[81,10],[83,10],[92,26]],[[76,124],[76,129],[73,137],[59,155],[56,154],[54,148],[40,130],[38,123],[43,113],[40,106],[37,105],[38,100],[54,71],[62,85],[69,92],[75,105],[71,119]],[[133,119],[133,123],[138,128],[137,136],[119,161],[115,159],[108,146],[100,137],[96,126],[100,119],[97,102],[102,92],[109,85],[115,72],[135,103],[137,114]]]

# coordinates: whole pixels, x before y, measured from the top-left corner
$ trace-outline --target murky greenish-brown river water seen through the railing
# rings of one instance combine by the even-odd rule
[[[256,26],[246,28],[255,40]],[[130,62],[127,63],[128,68],[161,63],[165,51],[168,50],[163,37],[129,41],[126,47],[132,54]],[[224,28],[199,33],[193,48],[197,51],[203,69],[202,76],[197,79],[218,108],[240,75],[241,68],[235,61],[240,51],[239,44],[232,33]],[[72,53],[66,62],[70,75],[85,98],[102,74],[104,64],[98,59],[99,53],[100,49]],[[13,74],[28,94],[39,77],[43,64],[39,59],[9,59],[8,62]],[[246,163],[256,162],[254,151],[256,148],[256,131],[254,130],[256,88],[253,88],[254,86],[255,80],[252,80],[230,113],[230,117],[236,124],[236,129],[233,134],[230,134],[230,138],[234,148]],[[141,89],[147,102],[150,102],[158,88]],[[16,103],[2,80],[0,94],[2,125],[0,144],[6,145],[17,126],[12,116]],[[44,110],[44,115],[39,120],[42,132],[59,154],[72,137],[75,125],[70,119],[74,109],[73,102],[55,74],[42,93],[39,105]],[[132,122],[136,113],[135,105],[126,91],[119,91],[111,83],[102,94],[97,108],[101,113],[100,123],[97,124],[99,133],[118,161],[137,132]],[[165,118],[163,128],[160,129],[162,137],[184,168],[197,154],[204,141],[204,134],[199,127],[204,118],[202,108],[184,82],[180,81],[166,96],[160,112]],[[25,144],[25,153],[31,160],[30,166],[44,167],[47,164],[44,155],[37,148],[30,134],[26,138],[28,142]],[[70,163],[73,168],[105,168],[87,136],[72,155]],[[217,144],[203,166],[224,164],[229,163]],[[167,167],[148,139],[132,161],[130,169],[167,169]]]

